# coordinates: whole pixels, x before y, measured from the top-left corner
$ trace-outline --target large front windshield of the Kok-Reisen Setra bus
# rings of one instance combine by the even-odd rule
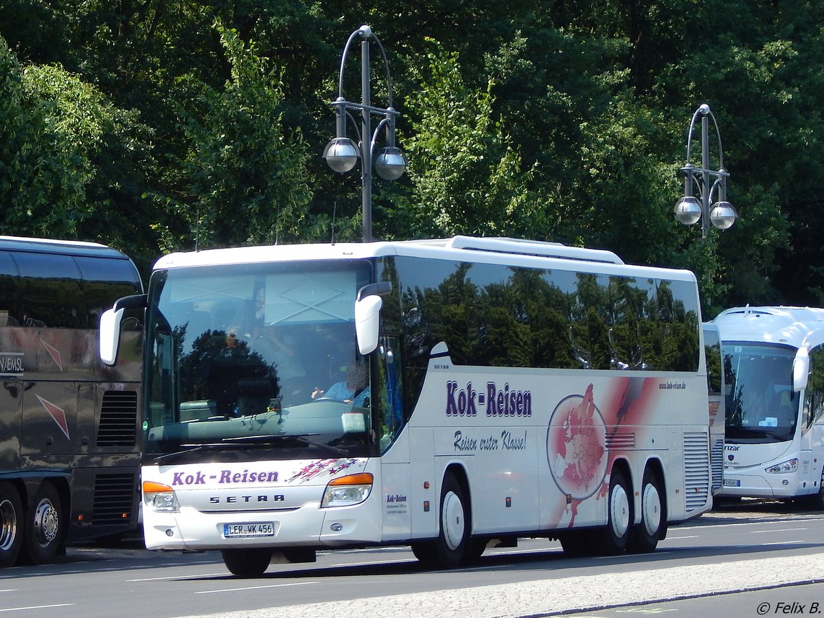
[[[295,263],[154,274],[147,456],[363,454],[371,393],[353,311],[368,275],[354,262],[315,263],[311,274]]]

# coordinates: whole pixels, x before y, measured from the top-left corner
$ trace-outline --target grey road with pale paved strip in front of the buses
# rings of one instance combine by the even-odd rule
[[[817,604],[817,605],[816,605]],[[405,548],[328,552],[232,577],[217,552],[148,552],[139,538],[78,545],[57,564],[0,571],[0,614],[172,616],[681,616],[824,612],[824,513],[719,508],[649,555],[569,559],[559,545],[489,549],[466,569],[421,569]]]

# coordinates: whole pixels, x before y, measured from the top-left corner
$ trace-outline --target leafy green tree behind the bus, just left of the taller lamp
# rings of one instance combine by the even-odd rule
[[[281,72],[269,69],[236,30],[215,28],[231,77],[219,89],[199,82],[198,106],[183,111],[190,149],[180,165],[180,198],[170,204],[188,222],[186,244],[305,237],[308,155],[300,133],[283,127]]]

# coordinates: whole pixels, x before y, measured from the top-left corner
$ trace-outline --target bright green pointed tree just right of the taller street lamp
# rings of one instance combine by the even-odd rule
[[[405,101],[415,118],[414,135],[405,141],[413,190],[400,210],[414,213],[411,232],[541,235],[541,201],[528,190],[533,170],[522,169],[494,114],[492,83],[485,91],[467,87],[458,55],[430,43],[419,90]]]

